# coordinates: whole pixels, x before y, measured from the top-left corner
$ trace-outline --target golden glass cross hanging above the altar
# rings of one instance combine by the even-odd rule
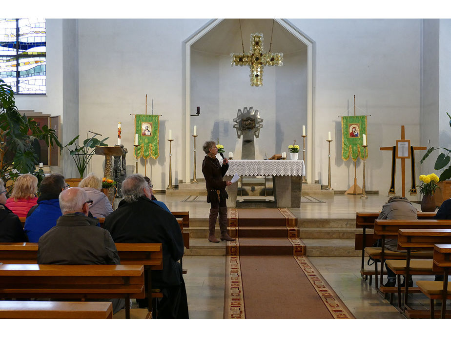
[[[282,66],[284,63],[283,53],[265,53],[263,49],[263,34],[253,33],[250,35],[250,52],[243,54],[231,54],[232,66],[250,67],[250,85],[263,86],[263,66]]]

